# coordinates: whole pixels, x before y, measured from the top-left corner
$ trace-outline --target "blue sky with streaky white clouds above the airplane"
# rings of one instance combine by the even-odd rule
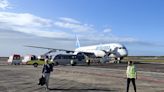
[[[0,56],[121,43],[131,56],[164,55],[163,0],[0,0]]]

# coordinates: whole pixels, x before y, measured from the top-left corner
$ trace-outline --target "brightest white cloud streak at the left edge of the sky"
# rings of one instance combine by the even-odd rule
[[[0,12],[0,22],[11,26],[49,27],[51,20],[31,15],[29,13]]]

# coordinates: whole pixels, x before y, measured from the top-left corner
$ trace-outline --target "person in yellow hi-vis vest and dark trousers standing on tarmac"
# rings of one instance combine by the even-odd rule
[[[132,84],[133,84],[133,87],[134,87],[134,91],[137,92],[136,91],[136,84],[135,84],[135,79],[137,79],[137,71],[136,71],[136,67],[134,66],[132,61],[128,62],[126,75],[127,75],[127,88],[126,88],[126,92],[129,92],[130,81],[132,81]]]

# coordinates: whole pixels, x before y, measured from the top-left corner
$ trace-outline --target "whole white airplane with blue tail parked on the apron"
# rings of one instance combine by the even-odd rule
[[[66,49],[39,47],[39,46],[26,46],[26,47],[48,49],[49,51],[44,55],[56,51],[64,51],[66,53],[73,53],[73,55],[84,54],[86,56],[94,55],[94,57],[96,58],[103,58],[103,57],[114,58],[118,63],[128,55],[128,50],[123,44],[120,43],[99,44],[99,45],[81,47],[77,36],[76,36],[76,49],[74,51],[66,50]]]

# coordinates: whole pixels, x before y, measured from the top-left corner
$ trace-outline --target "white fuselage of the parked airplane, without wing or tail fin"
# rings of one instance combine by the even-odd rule
[[[92,45],[92,46],[84,46],[75,49],[75,53],[78,52],[88,52],[94,53],[96,57],[104,57],[107,53],[109,57],[113,58],[121,58],[128,55],[128,51],[124,45],[120,43],[110,43],[110,44],[100,44],[100,45]]]

